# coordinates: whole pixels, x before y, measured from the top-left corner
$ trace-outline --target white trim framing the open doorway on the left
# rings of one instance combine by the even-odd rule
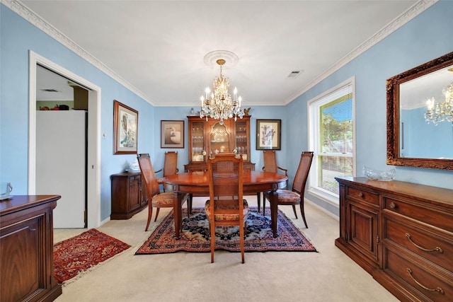
[[[40,64],[88,88],[87,227],[101,225],[101,87],[29,51],[28,194],[36,192],[36,66]]]

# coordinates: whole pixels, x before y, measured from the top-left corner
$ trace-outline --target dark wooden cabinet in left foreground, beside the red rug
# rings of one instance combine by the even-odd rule
[[[13,196],[0,202],[0,301],[54,301],[52,210],[59,195]]]

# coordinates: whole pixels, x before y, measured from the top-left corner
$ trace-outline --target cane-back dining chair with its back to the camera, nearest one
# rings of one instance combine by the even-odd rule
[[[236,158],[234,153],[219,153],[207,160],[210,199],[205,204],[205,211],[210,221],[211,263],[214,262],[216,226],[239,226],[241,257],[244,263],[248,204],[246,199],[243,199],[242,161],[242,158]]]

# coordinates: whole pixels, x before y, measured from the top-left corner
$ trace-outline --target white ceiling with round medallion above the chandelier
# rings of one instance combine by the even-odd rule
[[[417,2],[22,1],[156,106],[198,105],[219,74],[205,55],[234,52],[246,108],[294,100]]]

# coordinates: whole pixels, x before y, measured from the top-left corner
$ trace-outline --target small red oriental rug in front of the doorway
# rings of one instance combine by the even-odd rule
[[[96,228],[54,245],[54,275],[58,283],[67,283],[84,272],[130,248]]]

